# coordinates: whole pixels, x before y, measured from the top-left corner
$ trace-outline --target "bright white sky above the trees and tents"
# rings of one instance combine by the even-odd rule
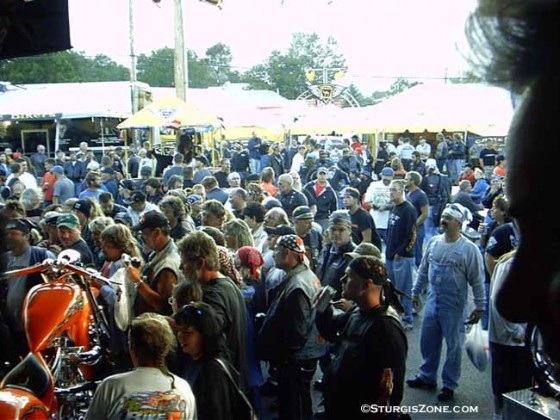
[[[132,0],[136,54],[173,47],[174,0]],[[347,61],[343,83],[363,93],[394,78],[444,79],[468,69],[464,27],[476,0],[223,0],[222,9],[182,0],[185,44],[199,57],[221,42],[243,72],[292,33],[332,36]],[[69,0],[71,41],[88,55],[105,54],[129,66],[129,1]]]

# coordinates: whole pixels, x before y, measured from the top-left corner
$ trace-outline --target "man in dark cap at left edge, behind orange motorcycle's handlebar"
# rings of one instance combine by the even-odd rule
[[[30,267],[47,258],[55,258],[52,252],[30,245],[31,227],[30,222],[25,219],[12,219],[6,224],[6,248],[8,252],[3,255],[3,260],[6,261],[8,271]],[[11,341],[13,344],[12,351],[9,351],[6,356],[12,362],[17,360],[17,356],[23,356],[27,353],[27,340],[21,318],[23,302],[27,292],[33,286],[42,282],[40,275],[32,274],[3,280],[0,283],[1,322],[6,323],[8,334],[13,339]]]

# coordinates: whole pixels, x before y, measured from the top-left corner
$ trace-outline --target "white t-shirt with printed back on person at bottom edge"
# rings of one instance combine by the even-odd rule
[[[184,379],[139,367],[109,376],[95,391],[86,419],[196,419],[196,403]]]

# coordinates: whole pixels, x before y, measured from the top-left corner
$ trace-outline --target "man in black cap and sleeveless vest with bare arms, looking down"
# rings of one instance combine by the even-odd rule
[[[171,315],[169,298],[179,280],[180,259],[175,242],[169,236],[169,222],[161,212],[150,211],[140,217],[140,223],[132,230],[141,232],[142,241],[152,251],[144,267],[140,269],[130,264],[127,268],[129,279],[138,292],[134,315],[144,312]]]

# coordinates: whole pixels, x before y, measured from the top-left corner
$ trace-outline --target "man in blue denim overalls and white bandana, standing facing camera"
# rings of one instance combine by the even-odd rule
[[[442,371],[443,388],[437,395],[440,401],[453,399],[459,385],[469,285],[476,308],[468,323],[480,320],[485,305],[482,255],[476,244],[461,235],[462,225],[469,218],[469,210],[460,204],[449,204],[443,210],[440,222],[443,233],[428,243],[412,288],[412,301],[417,311],[420,309],[419,296],[426,287],[428,300],[420,335],[423,361],[416,377],[407,380],[407,384],[412,388],[437,387],[442,340],[445,339],[447,355]]]

